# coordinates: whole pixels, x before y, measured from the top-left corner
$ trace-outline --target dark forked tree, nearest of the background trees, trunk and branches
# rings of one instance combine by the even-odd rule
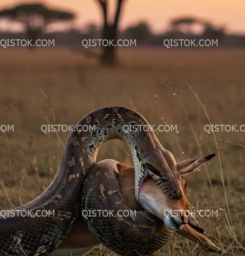
[[[122,5],[124,0],[117,0],[117,7],[112,24],[108,23],[108,1],[107,0],[96,0],[103,12],[103,29],[102,38],[106,39],[108,42],[112,41],[116,44],[118,38],[118,22],[122,10]],[[104,65],[113,66],[116,62],[116,47],[113,44],[108,44],[107,46],[102,46],[102,53],[100,55],[100,62]]]

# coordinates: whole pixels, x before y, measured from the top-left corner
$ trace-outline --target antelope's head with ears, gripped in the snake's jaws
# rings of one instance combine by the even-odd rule
[[[193,172],[214,156],[215,154],[212,154],[177,163],[177,171],[181,176]],[[190,207],[190,203],[186,198],[187,185],[185,180],[181,179],[183,197],[181,199],[171,199],[161,191],[161,187],[164,188],[164,183],[167,182],[167,177],[164,177],[164,175],[159,177],[151,171],[148,172],[153,179],[148,176],[144,180],[139,194],[139,202],[144,209],[163,220],[165,226],[173,231],[182,229],[183,226],[188,223],[189,226],[197,232],[204,233],[204,230],[198,224],[195,217],[187,211]],[[158,186],[156,186],[155,183],[157,183]]]

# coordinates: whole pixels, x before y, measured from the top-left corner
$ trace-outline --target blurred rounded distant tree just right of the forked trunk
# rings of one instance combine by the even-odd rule
[[[150,36],[151,31],[146,22],[141,22],[136,26],[131,26],[124,30],[127,39],[136,39],[137,43],[145,42]]]

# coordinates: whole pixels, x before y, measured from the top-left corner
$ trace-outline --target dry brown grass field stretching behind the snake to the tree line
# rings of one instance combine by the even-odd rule
[[[0,120],[14,127],[0,132],[0,210],[40,195],[56,173],[69,132],[44,133],[42,125],[75,125],[97,108],[123,105],[155,127],[177,125],[177,131],[156,132],[176,162],[216,153],[210,164],[186,176],[187,197],[195,209],[218,210],[218,217],[197,217],[205,236],[224,249],[232,244],[227,255],[245,255],[232,234],[245,247],[245,133],[204,129],[207,115],[211,124],[236,125],[235,130],[245,124],[244,50],[124,49],[117,68],[100,67],[65,49],[0,54]],[[132,164],[127,145],[118,140],[102,145],[98,161],[106,158]],[[195,253],[207,254],[174,235],[157,255]]]

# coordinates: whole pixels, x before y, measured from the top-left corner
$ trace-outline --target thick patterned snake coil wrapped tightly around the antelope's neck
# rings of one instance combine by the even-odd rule
[[[118,187],[117,164],[106,159],[89,172],[83,187],[84,220],[93,235],[113,252],[123,256],[156,252],[171,238],[172,231],[145,210],[130,211]]]

